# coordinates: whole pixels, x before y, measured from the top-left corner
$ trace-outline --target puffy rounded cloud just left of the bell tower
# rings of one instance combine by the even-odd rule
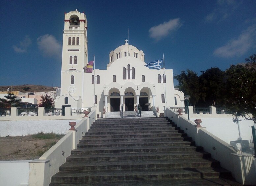
[[[57,58],[61,56],[61,45],[53,35],[46,34],[40,36],[37,38],[37,44],[43,56]]]

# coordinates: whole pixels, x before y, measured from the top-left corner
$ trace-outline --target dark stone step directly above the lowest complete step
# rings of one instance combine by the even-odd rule
[[[217,167],[219,162],[209,159],[168,159],[168,160],[122,160],[97,162],[66,162],[61,165],[60,171],[94,171],[94,170],[157,170],[173,168],[203,168]]]

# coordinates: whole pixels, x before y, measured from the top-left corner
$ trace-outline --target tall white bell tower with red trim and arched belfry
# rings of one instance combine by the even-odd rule
[[[83,67],[88,63],[87,19],[78,10],[65,13],[62,65],[61,95],[83,98]]]

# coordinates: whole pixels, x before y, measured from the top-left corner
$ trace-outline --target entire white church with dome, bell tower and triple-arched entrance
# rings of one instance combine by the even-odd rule
[[[103,116],[103,109],[134,111],[137,104],[142,111],[159,107],[160,113],[164,113],[164,106],[184,107],[184,93],[174,89],[172,70],[149,69],[144,52],[127,40],[109,53],[106,70],[86,72],[87,43],[86,15],[77,10],[65,13],[61,93],[55,108],[97,106]]]

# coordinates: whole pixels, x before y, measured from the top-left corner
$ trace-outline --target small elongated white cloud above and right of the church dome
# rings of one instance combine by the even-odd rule
[[[170,19],[168,22],[161,23],[149,29],[149,36],[156,41],[166,37],[172,31],[179,29],[182,26],[180,18]]]

